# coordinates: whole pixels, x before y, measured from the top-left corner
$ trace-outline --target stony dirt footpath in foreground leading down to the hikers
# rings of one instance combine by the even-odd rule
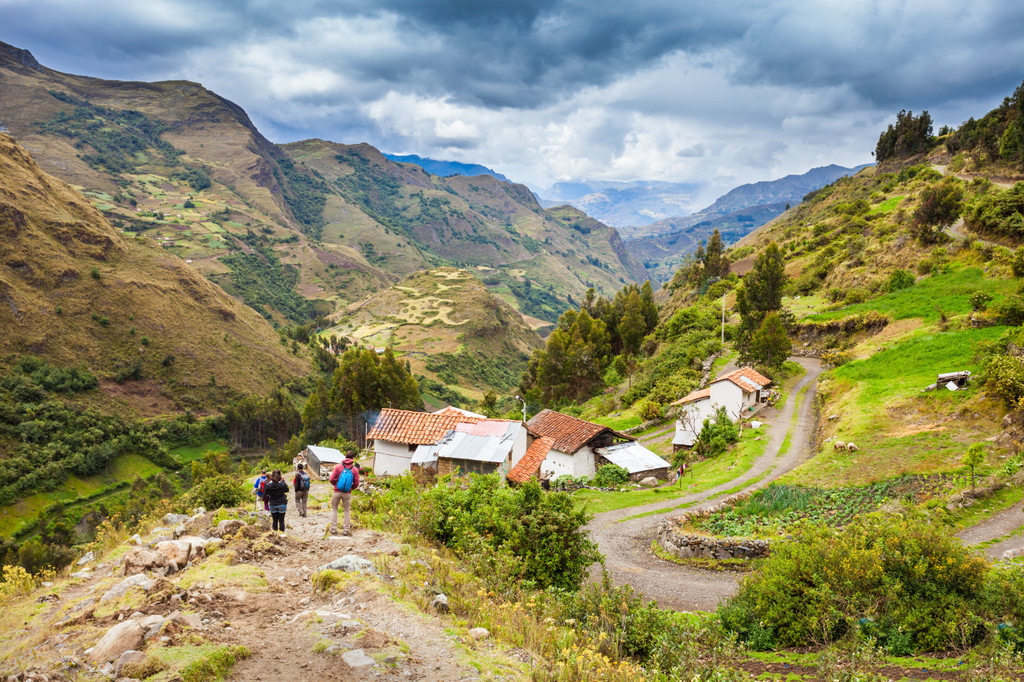
[[[326,498],[330,486],[313,483],[310,494]],[[249,601],[256,606],[252,612],[245,612],[245,607],[236,615],[225,612],[224,620],[231,623],[233,631],[226,637],[221,633],[223,641],[244,644],[253,652],[234,667],[228,679],[479,679],[474,669],[462,663],[444,624],[437,619],[402,606],[374,589],[313,592],[309,578],[319,565],[346,554],[369,559],[397,554],[397,546],[373,530],[356,529],[349,538],[326,538],[328,521],[327,511],[310,510],[301,518],[290,505],[287,551],[252,562],[263,570],[272,592],[252,595]],[[341,625],[351,621],[359,625]],[[321,640],[337,645],[339,653],[352,648],[370,656],[392,653],[397,662],[352,669],[339,655],[313,653]]]

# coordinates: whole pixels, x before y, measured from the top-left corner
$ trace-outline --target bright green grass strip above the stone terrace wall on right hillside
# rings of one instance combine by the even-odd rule
[[[1014,293],[1016,282],[992,280],[980,267],[963,267],[949,272],[925,278],[912,287],[900,289],[879,298],[848,305],[838,310],[819,312],[808,317],[811,322],[839,319],[848,315],[877,310],[891,314],[895,319],[921,317],[927,323],[939,319],[939,312],[963,315],[971,312],[971,294],[986,291],[992,294],[990,305],[998,304]]]

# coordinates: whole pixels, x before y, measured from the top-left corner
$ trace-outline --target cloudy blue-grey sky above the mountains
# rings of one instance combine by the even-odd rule
[[[535,189],[852,166],[900,109],[958,125],[1024,80],[1019,0],[0,0],[0,40]]]

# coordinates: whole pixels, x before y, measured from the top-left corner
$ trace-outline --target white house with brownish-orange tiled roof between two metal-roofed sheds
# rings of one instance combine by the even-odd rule
[[[550,438],[553,443],[541,464],[541,474],[552,478],[562,475],[593,476],[600,456],[595,451],[617,442],[636,440],[607,426],[544,410],[526,422],[529,430]]]

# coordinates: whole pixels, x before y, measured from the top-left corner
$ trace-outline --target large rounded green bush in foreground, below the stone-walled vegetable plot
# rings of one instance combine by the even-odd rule
[[[923,514],[871,514],[841,530],[807,524],[795,536],[719,609],[741,639],[826,644],[864,619],[894,649],[961,648],[984,636],[985,559]]]

